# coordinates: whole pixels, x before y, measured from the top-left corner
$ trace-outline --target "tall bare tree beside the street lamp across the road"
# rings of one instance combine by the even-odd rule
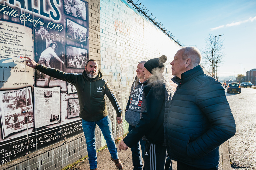
[[[217,78],[217,67],[219,67],[223,58],[223,40],[218,36],[209,34],[209,36],[205,38],[205,41],[206,45],[202,50],[203,63],[210,67],[212,76]]]

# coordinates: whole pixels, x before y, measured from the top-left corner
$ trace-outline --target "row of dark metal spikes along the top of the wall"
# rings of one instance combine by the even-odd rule
[[[161,22],[157,22],[156,17],[153,18],[153,14],[151,13],[150,15],[148,15],[148,9],[146,9],[146,6],[144,7],[144,5],[142,6],[142,8],[140,8],[141,3],[139,3],[139,0],[134,3],[133,0],[127,0],[127,4],[131,3],[132,7],[134,9],[136,9],[139,13],[143,14],[151,23],[153,23],[157,28],[159,28],[162,32],[164,32],[168,37],[170,37],[174,42],[176,42],[178,45],[183,46],[183,44],[181,44],[181,42],[171,33],[170,31],[167,31],[167,29],[165,29],[165,27],[163,28],[163,24],[160,26]],[[155,22],[156,20],[156,22]]]

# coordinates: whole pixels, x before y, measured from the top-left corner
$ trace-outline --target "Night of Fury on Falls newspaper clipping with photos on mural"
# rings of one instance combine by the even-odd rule
[[[18,131],[34,127],[31,87],[0,91],[3,139]]]

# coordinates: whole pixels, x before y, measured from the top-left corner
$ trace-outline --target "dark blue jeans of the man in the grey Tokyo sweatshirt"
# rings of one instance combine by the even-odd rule
[[[129,125],[128,131],[131,131],[135,126]],[[142,158],[144,159],[144,150],[145,150],[146,141],[140,139],[138,143],[131,147],[132,151],[132,165],[134,166],[133,170],[142,170],[142,162],[141,162],[141,155],[140,155],[140,146],[142,152]]]

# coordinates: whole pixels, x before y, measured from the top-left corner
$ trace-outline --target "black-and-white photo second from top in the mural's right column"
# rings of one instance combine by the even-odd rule
[[[82,46],[87,44],[87,29],[69,19],[67,19],[66,37],[74,42],[80,43]]]

